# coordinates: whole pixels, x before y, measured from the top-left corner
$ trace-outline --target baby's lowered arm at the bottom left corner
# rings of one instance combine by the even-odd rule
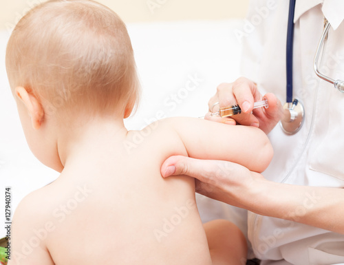
[[[44,210],[38,205],[43,198],[36,191],[17,207],[11,229],[11,256],[8,265],[54,265],[45,245],[49,236]],[[49,229],[48,229],[49,230]]]

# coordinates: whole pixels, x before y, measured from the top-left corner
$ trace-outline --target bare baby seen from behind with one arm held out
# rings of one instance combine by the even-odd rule
[[[10,37],[6,69],[30,149],[61,172],[19,204],[10,265],[243,264],[239,229],[203,226],[195,180],[165,180],[160,167],[182,155],[264,171],[272,148],[262,131],[197,118],[127,131],[140,94],[131,41],[94,1],[31,10]]]

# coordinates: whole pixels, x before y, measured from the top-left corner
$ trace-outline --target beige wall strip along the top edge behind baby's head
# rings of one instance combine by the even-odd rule
[[[1,0],[0,29],[11,28],[45,0]],[[126,22],[243,18],[249,0],[98,0]]]

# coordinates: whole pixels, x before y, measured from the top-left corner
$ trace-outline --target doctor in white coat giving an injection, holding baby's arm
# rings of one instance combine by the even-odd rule
[[[236,32],[246,78],[219,85],[209,101],[210,111],[217,101],[220,107],[238,103],[244,114],[233,116],[236,122],[268,134],[275,157],[264,177],[230,162],[180,156],[164,162],[162,175],[193,176],[197,192],[247,209],[248,240],[261,264],[344,264],[344,94],[313,69],[325,18],[331,27],[319,70],[344,79],[344,1],[296,1],[293,98],[305,112],[295,134],[277,124],[279,101],[286,102],[289,4],[251,1],[246,26]],[[266,92],[277,98],[268,94],[270,107],[250,114],[253,102]]]

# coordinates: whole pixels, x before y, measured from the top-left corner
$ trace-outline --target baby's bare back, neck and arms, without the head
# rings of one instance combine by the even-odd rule
[[[261,171],[271,156],[259,129],[193,118],[161,120],[129,132],[121,123],[102,120],[73,131],[65,134],[73,140],[64,142],[61,176],[17,209],[12,248],[17,259],[10,265],[212,264],[195,182],[163,179],[162,162],[189,154]],[[210,142],[211,131],[237,140]],[[257,150],[261,160],[252,160]]]

